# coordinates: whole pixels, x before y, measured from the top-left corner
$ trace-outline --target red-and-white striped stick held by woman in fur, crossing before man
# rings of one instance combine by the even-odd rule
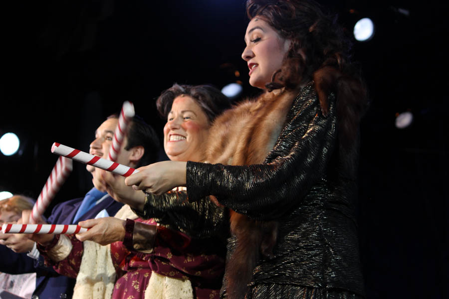
[[[69,147],[66,147],[64,145],[54,143],[51,146],[51,152],[59,154],[61,156],[73,159],[75,161],[89,164],[98,168],[101,168],[103,170],[111,171],[115,174],[119,174],[122,176],[130,176],[133,173],[138,172],[139,170],[136,170],[132,167],[128,167],[122,164],[119,164],[117,162],[113,162],[107,159],[100,158],[99,156],[92,155],[90,153],[81,151],[79,149],[72,149]]]

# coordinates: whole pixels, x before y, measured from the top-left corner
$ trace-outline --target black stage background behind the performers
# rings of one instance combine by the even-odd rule
[[[354,46],[371,99],[359,175],[368,298],[449,298],[448,4],[321,2],[350,31],[361,16],[376,25]],[[174,82],[240,80],[243,96],[257,93],[240,58],[243,0],[1,1],[0,22],[0,135],[21,140],[18,154],[0,153],[0,191],[36,198],[57,159],[52,143],[87,151],[125,100],[162,137],[155,98]],[[404,111],[415,120],[399,130]],[[90,187],[75,162],[54,202]]]

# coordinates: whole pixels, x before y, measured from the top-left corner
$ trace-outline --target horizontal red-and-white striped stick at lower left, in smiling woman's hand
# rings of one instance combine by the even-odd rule
[[[82,228],[75,224],[3,224],[1,232],[3,234],[77,234],[86,232],[87,228]]]

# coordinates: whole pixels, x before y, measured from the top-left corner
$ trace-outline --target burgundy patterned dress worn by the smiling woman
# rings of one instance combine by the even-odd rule
[[[135,221],[157,225],[153,219]],[[56,238],[59,235],[56,235]],[[82,242],[74,235],[67,235],[73,245],[69,256],[51,261],[41,251],[48,264],[61,275],[76,278],[83,255]],[[52,244],[55,244],[53,242]],[[192,239],[179,231],[159,226],[153,252],[150,254],[128,249],[123,242],[111,244],[111,259],[117,273],[113,299],[144,299],[151,274],[190,280],[197,299],[219,298],[225,270],[225,245],[211,239]]]

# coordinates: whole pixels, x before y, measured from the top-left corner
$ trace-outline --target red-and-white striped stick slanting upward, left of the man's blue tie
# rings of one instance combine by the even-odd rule
[[[72,160],[64,157],[58,158],[33,206],[30,219],[31,223],[37,223],[37,220],[42,216],[45,209],[56,195],[56,192],[58,192],[67,176],[72,171],[72,167]]]

